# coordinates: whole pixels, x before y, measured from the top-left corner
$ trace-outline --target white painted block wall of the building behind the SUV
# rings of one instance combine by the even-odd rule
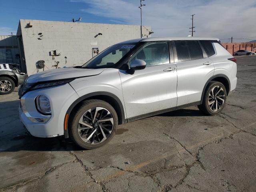
[[[32,27],[28,28],[28,23]],[[150,26],[146,26],[150,30]],[[143,28],[143,34],[148,31]],[[39,33],[42,33],[42,39]],[[102,35],[96,36],[98,33]],[[97,24],[82,22],[57,22],[41,20],[20,20],[17,35],[22,35],[26,68],[29,75],[36,73],[36,62],[44,60],[44,70],[59,67],[82,65],[92,58],[92,48],[100,52],[109,46],[125,40],[140,38],[140,26]],[[62,50],[60,56],[49,56],[53,50]],[[67,57],[65,60],[64,57]],[[42,71],[42,70],[40,70]]]

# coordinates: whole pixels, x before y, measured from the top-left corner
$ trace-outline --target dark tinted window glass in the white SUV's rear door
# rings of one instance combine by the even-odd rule
[[[178,56],[178,62],[202,59],[203,53],[197,41],[174,41]]]

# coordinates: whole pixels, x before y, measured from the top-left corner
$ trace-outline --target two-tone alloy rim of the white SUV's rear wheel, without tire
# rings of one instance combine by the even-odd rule
[[[225,92],[221,86],[214,86],[208,96],[210,110],[216,112],[222,108],[225,102]]]

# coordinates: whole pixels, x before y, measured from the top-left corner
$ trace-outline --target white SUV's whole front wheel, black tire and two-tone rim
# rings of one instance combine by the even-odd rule
[[[114,108],[102,100],[86,100],[70,115],[69,134],[80,147],[94,149],[114,136],[118,117]]]

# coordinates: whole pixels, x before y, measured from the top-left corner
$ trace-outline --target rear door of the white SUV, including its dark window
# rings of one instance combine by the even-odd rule
[[[212,60],[197,40],[178,40],[172,43],[178,76],[177,106],[198,104],[204,85],[214,75]]]

